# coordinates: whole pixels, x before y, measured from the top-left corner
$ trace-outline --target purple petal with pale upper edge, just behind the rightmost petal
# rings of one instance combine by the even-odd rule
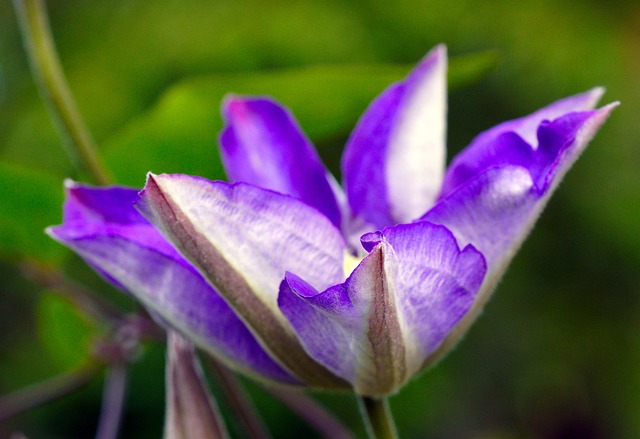
[[[519,165],[531,168],[544,161],[543,155],[555,156],[563,144],[589,119],[589,110],[597,104],[604,90],[594,88],[586,93],[562,99],[529,116],[501,123],[479,134],[451,162],[442,186],[441,197],[446,196],[465,181],[491,166]],[[540,139],[540,128],[564,119],[555,139]],[[573,131],[573,132],[572,132]],[[548,137],[548,136],[547,136]],[[554,143],[555,151],[538,151]],[[548,149],[548,148],[547,148]],[[537,154],[536,154],[537,152]]]

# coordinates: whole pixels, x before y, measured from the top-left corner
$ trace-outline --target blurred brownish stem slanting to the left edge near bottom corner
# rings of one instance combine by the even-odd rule
[[[101,368],[98,364],[91,364],[0,397],[0,422],[84,387]]]

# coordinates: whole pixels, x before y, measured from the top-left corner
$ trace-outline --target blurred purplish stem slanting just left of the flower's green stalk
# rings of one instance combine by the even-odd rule
[[[278,398],[300,418],[304,419],[322,437],[353,439],[354,435],[331,412],[302,391],[285,387],[267,387],[269,393]]]

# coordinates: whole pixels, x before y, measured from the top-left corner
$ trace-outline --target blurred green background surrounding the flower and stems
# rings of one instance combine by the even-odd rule
[[[79,107],[118,182],[136,187],[147,171],[223,178],[216,136],[228,92],[272,94],[289,105],[337,173],[367,103],[440,42],[454,60],[485,50],[499,60],[484,79],[450,94],[449,157],[500,121],[607,87],[603,103],[622,106],[566,177],[483,315],[391,408],[403,438],[640,437],[639,2],[56,0],[48,7]],[[60,268],[134,307],[44,236],[60,222],[65,177],[84,176],[64,154],[12,5],[2,1],[0,394],[77,366],[98,331],[25,279],[19,261]],[[149,344],[134,365],[123,438],[161,435],[163,358],[163,347]],[[247,385],[274,437],[314,437]],[[96,380],[0,426],[0,436],[91,437],[100,394]],[[318,398],[361,431],[351,398]]]

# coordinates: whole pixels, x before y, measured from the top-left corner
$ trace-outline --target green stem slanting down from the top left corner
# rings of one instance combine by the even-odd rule
[[[78,111],[56,53],[43,0],[14,0],[24,46],[33,76],[49,112],[66,139],[74,165],[89,173],[95,183],[111,178],[97,154],[97,147]]]

